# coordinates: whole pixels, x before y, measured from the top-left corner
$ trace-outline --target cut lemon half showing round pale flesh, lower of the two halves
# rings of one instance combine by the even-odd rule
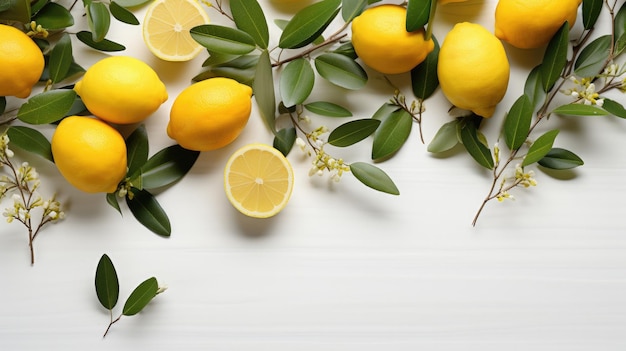
[[[285,208],[292,189],[293,169],[289,160],[269,145],[246,145],[226,162],[226,197],[246,216],[274,216]]]

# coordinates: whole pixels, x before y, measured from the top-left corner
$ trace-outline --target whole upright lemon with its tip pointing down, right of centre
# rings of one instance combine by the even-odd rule
[[[509,71],[504,46],[479,24],[456,24],[441,44],[439,84],[446,98],[461,109],[491,117],[506,93]]]

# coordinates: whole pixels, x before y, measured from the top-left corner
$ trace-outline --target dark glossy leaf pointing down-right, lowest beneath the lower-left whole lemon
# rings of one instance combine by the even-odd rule
[[[133,199],[126,197],[126,204],[137,221],[153,233],[169,237],[172,233],[170,220],[154,195],[147,190],[131,189]]]

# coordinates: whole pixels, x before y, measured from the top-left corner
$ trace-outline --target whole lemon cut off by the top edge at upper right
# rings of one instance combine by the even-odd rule
[[[520,48],[542,47],[567,21],[576,22],[582,0],[500,0],[496,6],[495,34]]]

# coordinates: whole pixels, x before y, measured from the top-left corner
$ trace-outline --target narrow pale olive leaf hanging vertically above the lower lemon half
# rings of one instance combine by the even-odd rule
[[[272,62],[267,50],[263,50],[259,57],[252,91],[263,120],[270,131],[276,133],[276,93],[274,91]]]

